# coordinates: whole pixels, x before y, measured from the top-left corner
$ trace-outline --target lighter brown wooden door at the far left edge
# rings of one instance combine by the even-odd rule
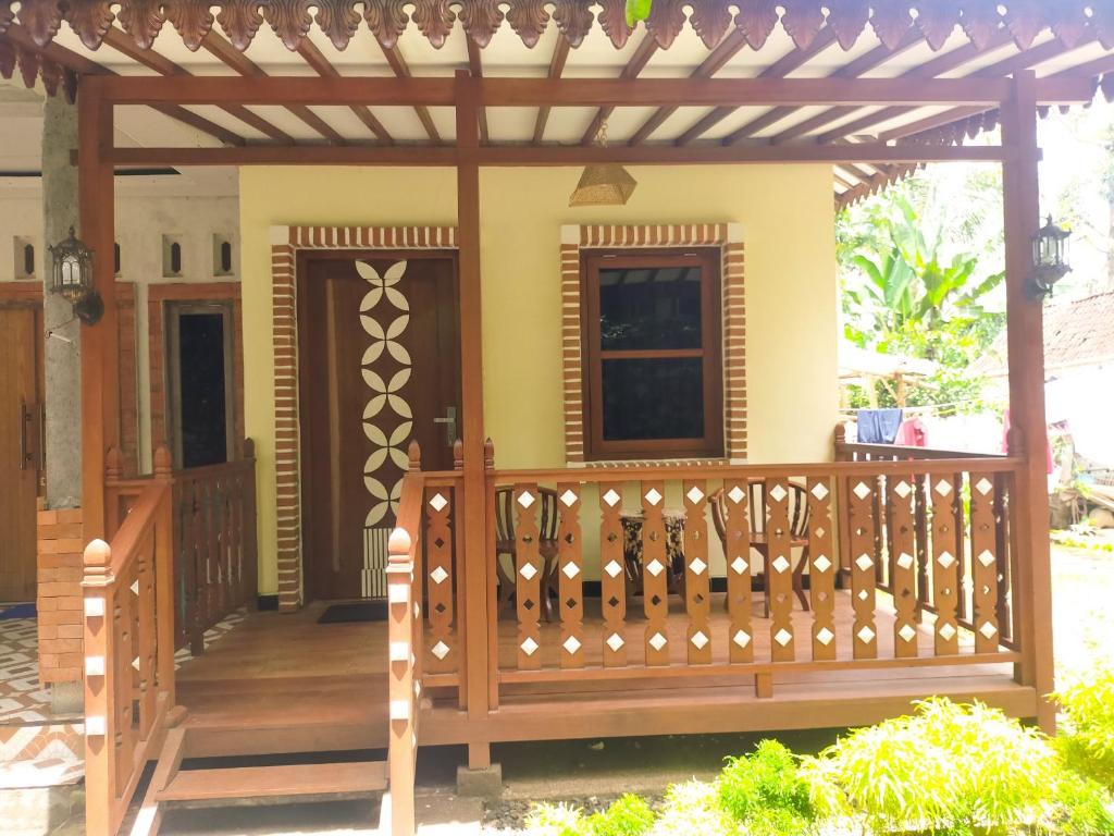
[[[33,601],[40,313],[0,307],[0,601]]]

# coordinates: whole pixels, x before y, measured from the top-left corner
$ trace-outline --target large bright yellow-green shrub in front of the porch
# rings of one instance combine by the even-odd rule
[[[851,732],[803,772],[825,813],[850,810],[874,833],[958,836],[1038,819],[1058,770],[1039,731],[980,703],[932,699],[911,717]]]

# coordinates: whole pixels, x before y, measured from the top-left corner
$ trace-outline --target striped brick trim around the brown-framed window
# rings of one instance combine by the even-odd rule
[[[746,459],[746,310],[741,224],[561,226],[561,366],[565,461],[584,465],[584,358],[580,323],[580,251],[719,246],[723,253],[723,447],[731,461]],[[592,464],[592,463],[587,463]],[[629,464],[638,463],[609,463]]]

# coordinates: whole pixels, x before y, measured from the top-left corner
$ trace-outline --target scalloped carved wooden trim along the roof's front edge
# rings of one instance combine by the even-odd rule
[[[443,46],[455,27],[483,47],[504,22],[527,47],[550,25],[574,48],[597,23],[617,49],[633,35],[624,0],[364,0],[362,18],[356,0],[22,0],[18,12],[16,3],[0,0],[0,33],[18,20],[39,47],[65,23],[86,47],[97,49],[118,22],[139,49],[148,49],[167,21],[192,50],[214,27],[236,49],[246,50],[264,23],[292,51],[313,27],[339,50],[361,37],[364,25],[388,49],[408,27],[434,47]],[[216,14],[214,8],[219,9]],[[644,26],[662,49],[668,49],[685,26],[709,49],[732,30],[752,49],[761,49],[779,23],[801,49],[825,26],[843,49],[851,49],[868,28],[891,49],[910,29],[939,49],[957,27],[976,46],[1004,28],[1022,49],[1046,29],[1068,47],[1094,37],[1114,48],[1114,3],[1101,0],[655,0]]]

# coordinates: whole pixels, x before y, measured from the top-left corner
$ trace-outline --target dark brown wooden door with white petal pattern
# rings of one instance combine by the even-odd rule
[[[297,274],[310,595],[385,597],[407,448],[450,469],[460,435],[456,254],[309,252]]]

